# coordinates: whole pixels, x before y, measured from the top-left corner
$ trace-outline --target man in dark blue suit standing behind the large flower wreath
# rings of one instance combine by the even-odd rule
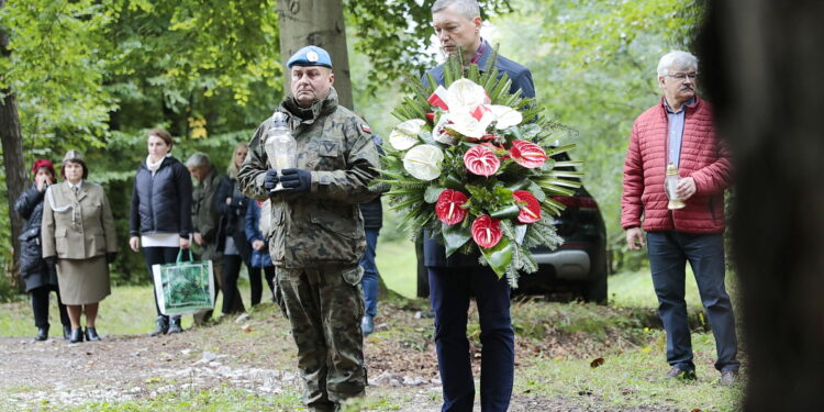
[[[498,56],[490,62],[492,47],[481,38],[481,18],[475,0],[437,0],[432,5],[432,20],[441,47],[446,54],[464,53],[467,65],[478,65],[486,71],[494,65],[500,75],[512,79],[510,92],[535,97],[530,70],[517,63]],[[438,85],[444,83],[444,66],[428,71]],[[424,76],[424,82],[426,77]],[[467,311],[470,296],[475,296],[480,316],[481,409],[506,411],[512,397],[515,344],[510,319],[510,287],[488,266],[472,256],[456,253],[448,258],[444,246],[424,233],[424,265],[430,276],[430,301],[435,312],[435,347],[441,380],[443,411],[471,411],[475,381],[466,337]]]

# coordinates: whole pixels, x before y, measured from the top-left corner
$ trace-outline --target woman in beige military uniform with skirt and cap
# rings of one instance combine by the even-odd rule
[[[66,180],[46,190],[43,258],[57,269],[60,299],[71,321],[69,341],[100,341],[94,320],[99,302],[111,294],[108,264],[118,252],[114,220],[103,188],[86,181],[89,169],[77,151],[66,153],[60,175]]]

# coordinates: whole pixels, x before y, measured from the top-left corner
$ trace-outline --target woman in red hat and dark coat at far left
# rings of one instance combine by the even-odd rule
[[[60,300],[57,274],[43,259],[41,245],[41,221],[43,220],[43,197],[46,188],[54,185],[54,165],[46,159],[37,159],[32,166],[34,185],[14,202],[14,211],[26,220],[20,235],[20,274],[25,280],[25,291],[32,294],[34,325],[37,327],[35,341],[48,338],[48,294],[57,292],[57,307],[60,309],[63,337],[68,338],[71,329],[66,305]]]

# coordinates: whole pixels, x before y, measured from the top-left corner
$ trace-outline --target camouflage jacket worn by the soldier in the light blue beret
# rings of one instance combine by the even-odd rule
[[[271,231],[264,234],[276,266],[357,265],[366,248],[358,203],[377,193],[369,182],[378,176],[379,155],[369,127],[337,104],[337,93],[301,109],[289,96],[279,111],[290,116],[298,142],[298,168],[310,170],[311,188],[303,193],[271,196]],[[264,178],[269,169],[264,151],[269,120],[255,131],[249,154],[237,175],[244,194],[266,200]]]

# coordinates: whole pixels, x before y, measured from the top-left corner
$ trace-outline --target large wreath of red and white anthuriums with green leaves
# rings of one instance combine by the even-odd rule
[[[478,250],[482,265],[516,287],[520,271],[537,270],[531,248],[563,242],[553,219],[564,204],[552,197],[574,194],[580,164],[553,155],[572,148],[560,142],[575,133],[546,120],[534,99],[510,93],[511,80],[494,67],[464,67],[449,58],[445,86],[427,74],[428,86],[416,82],[394,109],[400,123],[381,180],[413,238],[425,230],[447,256]]]

